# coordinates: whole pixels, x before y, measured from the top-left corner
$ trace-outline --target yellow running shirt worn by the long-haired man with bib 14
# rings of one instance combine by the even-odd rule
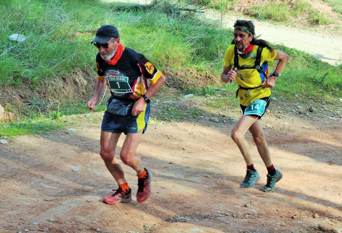
[[[257,58],[257,51],[259,46],[254,45],[252,51],[247,55],[241,57],[238,55],[238,64],[241,69],[237,70],[235,81],[237,85],[243,88],[255,88],[261,86],[265,76],[263,73],[259,73],[255,67],[255,59]],[[234,54],[235,44],[228,46],[224,55],[223,64],[224,66],[231,67],[234,69]],[[267,48],[263,48],[260,59],[260,67],[264,73],[268,75],[268,64],[267,62],[273,62],[277,56],[277,51],[269,51]],[[259,87],[250,90],[238,90],[239,101],[241,105],[247,106],[254,100],[261,99],[271,95],[270,88]]]

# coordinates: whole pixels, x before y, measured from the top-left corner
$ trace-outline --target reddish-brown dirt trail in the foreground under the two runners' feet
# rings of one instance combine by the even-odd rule
[[[282,105],[273,103],[262,124],[273,163],[284,177],[275,192],[264,193],[266,169],[250,134],[262,179],[251,189],[239,188],[245,164],[229,137],[234,124],[223,117],[238,119],[238,109],[211,111],[209,97],[196,98],[154,106],[154,116],[165,116],[161,111],[172,106],[201,110],[203,118],[150,122],[137,149],[154,172],[153,193],[144,203],[135,197],[115,206],[102,202],[116,188],[98,155],[103,113],[69,117],[76,132],[20,136],[0,145],[0,232],[341,232],[339,116],[284,114],[280,119],[277,106]],[[136,176],[123,168],[135,194]]]

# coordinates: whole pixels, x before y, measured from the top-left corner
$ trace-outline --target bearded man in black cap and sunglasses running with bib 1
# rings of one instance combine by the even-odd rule
[[[101,125],[100,155],[119,185],[118,189],[113,190],[113,195],[104,198],[104,202],[117,204],[130,202],[132,199],[131,189],[115,157],[115,148],[121,133],[127,136],[120,158],[136,171],[136,199],[144,202],[151,194],[152,172],[143,167],[135,151],[147,127],[150,98],[161,88],[165,77],[144,55],[123,47],[118,29],[114,26],[101,26],[91,43],[98,49],[97,81],[93,97],[87,105],[90,110],[95,109],[98,96],[107,83],[111,97]],[[147,79],[150,81],[149,87]]]

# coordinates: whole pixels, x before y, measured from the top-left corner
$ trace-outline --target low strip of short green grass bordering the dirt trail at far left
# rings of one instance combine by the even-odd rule
[[[4,128],[4,126],[10,127]],[[25,134],[44,134],[51,130],[61,129],[67,124],[63,121],[49,118],[36,120],[11,121],[9,124],[0,123],[0,136],[17,136]]]

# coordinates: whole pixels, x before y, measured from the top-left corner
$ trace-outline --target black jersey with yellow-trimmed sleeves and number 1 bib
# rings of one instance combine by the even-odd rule
[[[100,53],[96,56],[97,79],[106,80],[112,98],[134,101],[157,82],[161,72],[142,54],[125,47],[115,65],[109,65]]]

